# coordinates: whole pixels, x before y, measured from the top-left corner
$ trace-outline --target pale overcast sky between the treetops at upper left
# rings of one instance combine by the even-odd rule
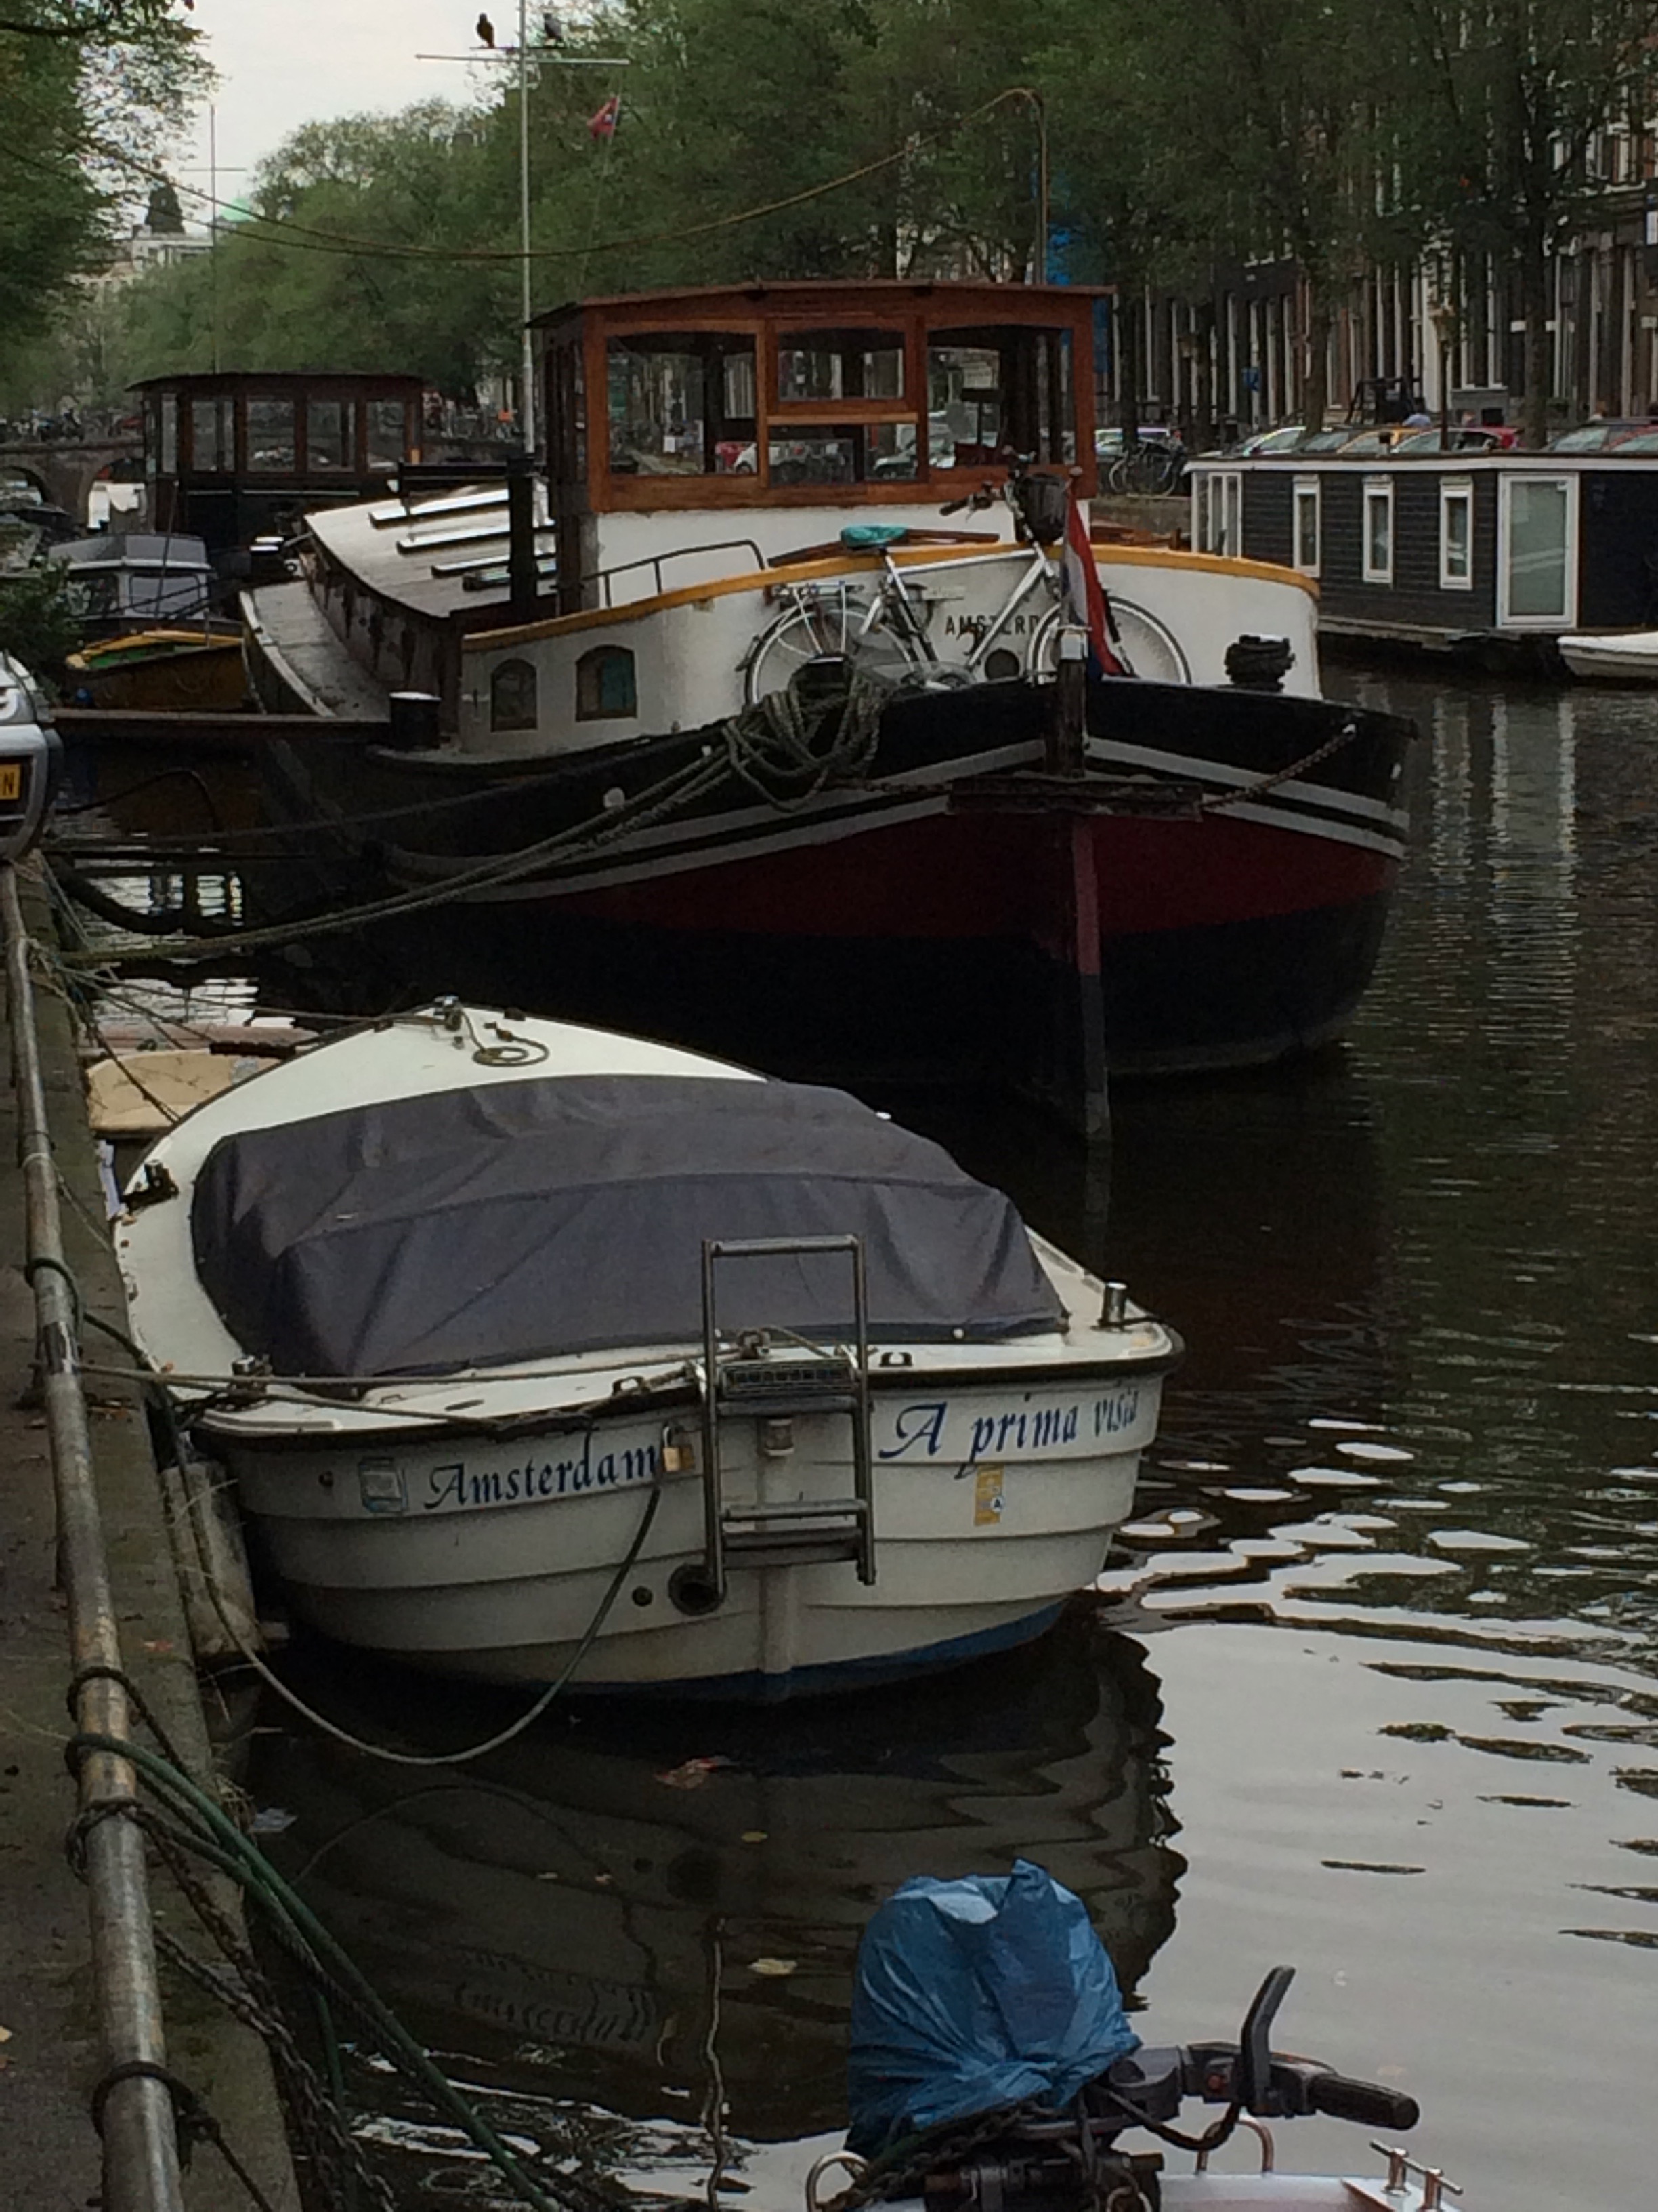
[[[493,0],[493,20],[502,42],[515,38],[517,0]],[[221,80],[214,93],[221,199],[237,199],[245,170],[301,124],[396,115],[416,100],[464,102],[482,77],[482,69],[416,60],[475,46],[478,0],[197,0],[192,22],[206,33]],[[206,111],[177,161],[179,184],[206,192]],[[188,197],[183,212],[190,223],[206,219],[206,208]]]

